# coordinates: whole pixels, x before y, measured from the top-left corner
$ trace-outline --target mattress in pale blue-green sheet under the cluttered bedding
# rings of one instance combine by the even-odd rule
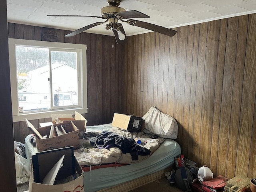
[[[86,126],[86,132],[102,132],[110,130],[110,128],[112,128],[111,124]],[[25,138],[25,153],[28,159],[37,152],[29,138],[30,135]],[[84,190],[85,192],[94,192],[164,170],[174,164],[174,157],[180,153],[180,145],[172,139],[166,139],[156,152],[141,162],[84,172]]]

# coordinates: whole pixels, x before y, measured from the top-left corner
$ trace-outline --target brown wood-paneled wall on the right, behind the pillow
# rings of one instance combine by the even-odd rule
[[[256,177],[256,14],[128,37],[122,112],[178,121],[186,158],[214,176]],[[255,121],[254,121],[255,120]]]

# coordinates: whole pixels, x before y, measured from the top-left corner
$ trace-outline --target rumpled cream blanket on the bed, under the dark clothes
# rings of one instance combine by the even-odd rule
[[[152,136],[150,134],[145,134],[143,132],[128,132],[127,130],[121,130],[117,127],[112,127],[110,130],[108,130],[108,134],[112,135],[110,136],[110,138],[113,138],[115,135],[117,135],[116,138],[123,137],[127,138],[127,140],[132,140],[132,143],[134,145],[133,147],[136,148],[135,151],[138,150],[138,155],[136,155],[135,152],[134,156],[134,151],[130,152],[130,150],[125,151],[126,153],[122,153],[122,147],[120,146],[114,146],[111,148],[101,148],[99,146],[98,148],[89,148],[87,152],[82,152],[82,148],[80,148],[78,150],[74,150],[74,155],[81,166],[92,166],[111,163],[132,164],[140,162],[153,154],[157,150],[160,143],[164,140],[164,138],[162,137],[152,139],[150,138],[150,136]],[[146,144],[144,146],[135,144],[134,138],[138,138],[142,142],[146,142]],[[84,142],[86,141],[88,142],[88,140],[84,140]]]

